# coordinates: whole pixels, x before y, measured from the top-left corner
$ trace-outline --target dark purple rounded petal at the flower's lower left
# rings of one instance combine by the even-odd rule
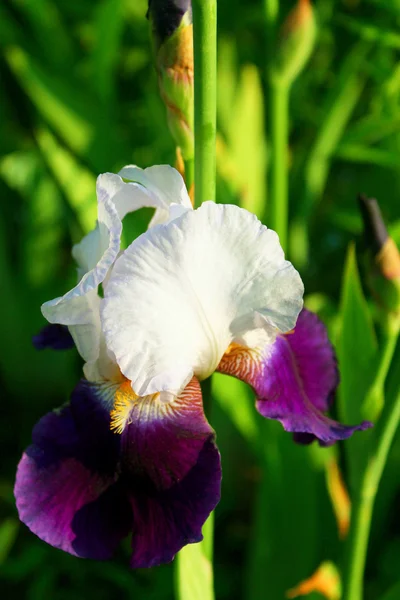
[[[17,472],[21,521],[45,542],[83,558],[110,558],[132,528],[116,481],[119,439],[97,388],[81,382],[71,404],[44,416]]]

